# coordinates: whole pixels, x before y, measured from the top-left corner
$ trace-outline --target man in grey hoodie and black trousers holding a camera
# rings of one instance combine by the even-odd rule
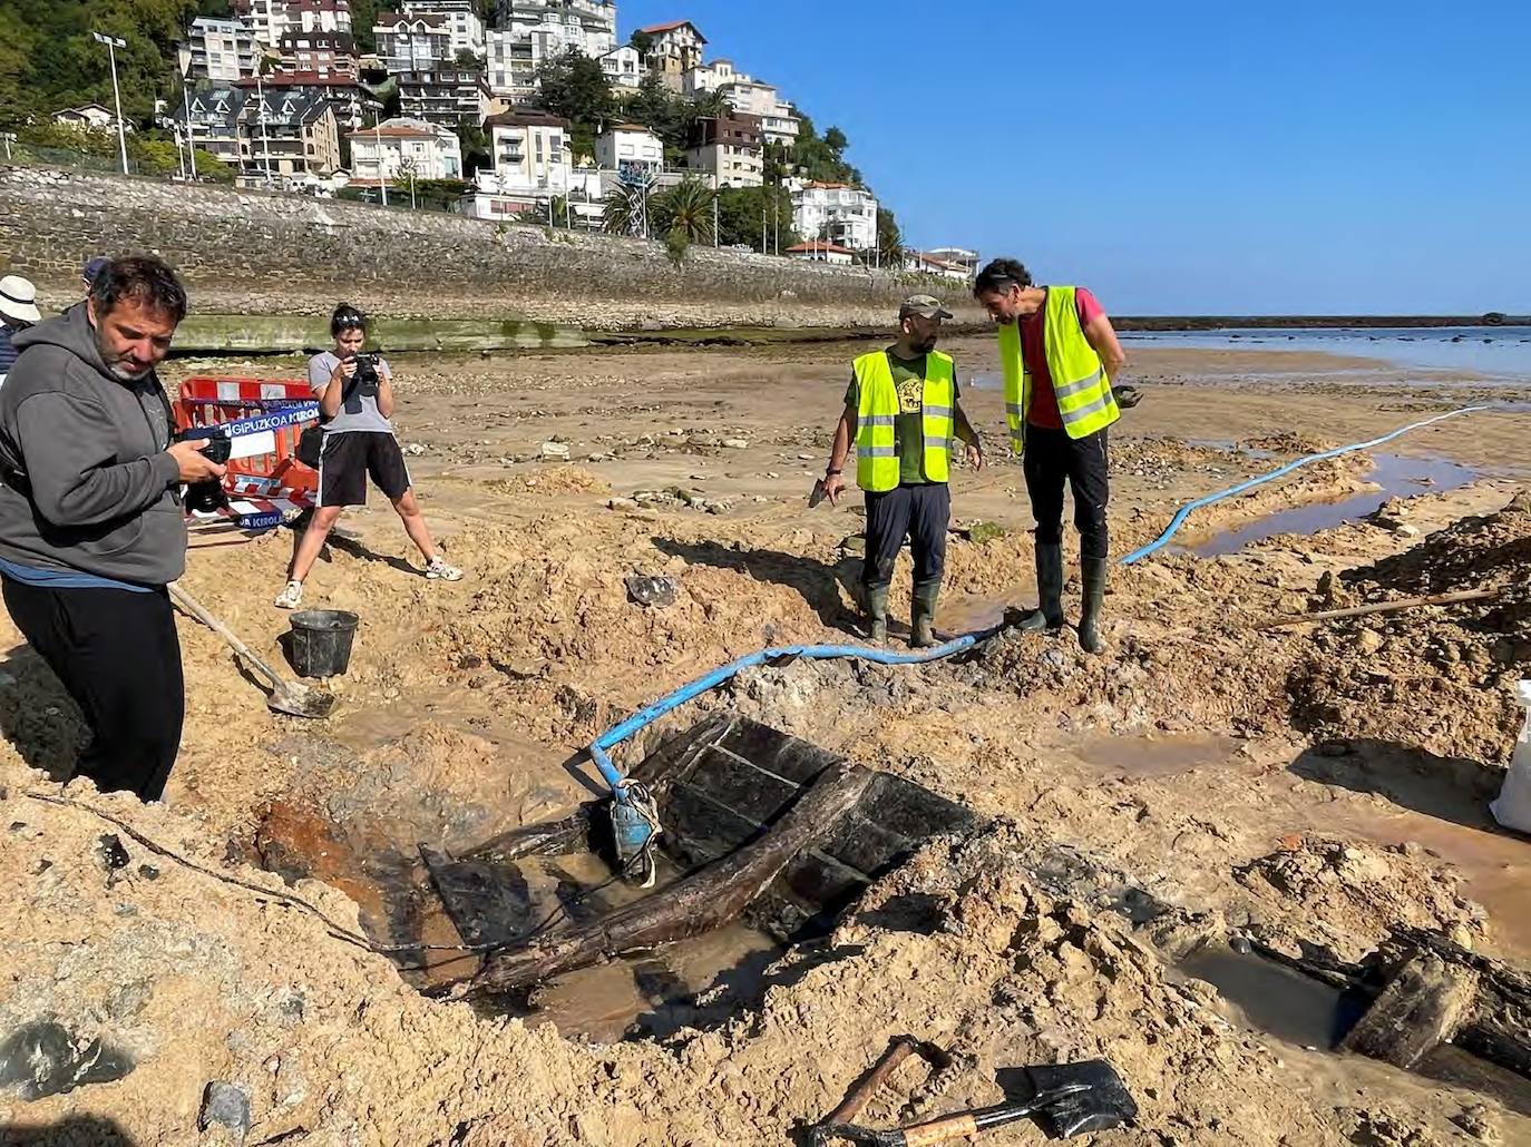
[[[6,609],[90,726],[77,772],[158,800],[181,746],[181,642],[165,584],[185,569],[179,486],[220,477],[171,445],[155,366],[187,297],[158,258],[118,258],[84,306],[15,340],[0,388]]]

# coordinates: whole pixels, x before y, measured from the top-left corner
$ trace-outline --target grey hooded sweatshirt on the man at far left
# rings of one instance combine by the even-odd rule
[[[107,372],[84,307],[15,347],[0,387],[0,558],[139,586],[179,578],[187,528],[159,379]]]

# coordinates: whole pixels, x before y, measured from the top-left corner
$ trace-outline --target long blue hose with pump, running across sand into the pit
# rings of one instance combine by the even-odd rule
[[[1176,511],[1170,525],[1165,528],[1154,541],[1147,546],[1133,551],[1127,557],[1121,558],[1121,564],[1131,566],[1133,563],[1142,561],[1150,554],[1162,549],[1168,544],[1170,538],[1176,535],[1185,520],[1202,506],[1209,506],[1214,502],[1222,502],[1223,499],[1243,494],[1248,489],[1254,489],[1266,482],[1274,482],[1278,477],[1291,474],[1294,470],[1300,470],[1312,462],[1323,462],[1324,459],[1340,457],[1341,454],[1350,454],[1356,450],[1370,450],[1379,447],[1386,442],[1392,442],[1401,434],[1407,434],[1412,430],[1419,430],[1422,427],[1442,422],[1448,418],[1456,418],[1458,414],[1468,414],[1476,410],[1488,410],[1485,405],[1477,407],[1461,407],[1459,410],[1451,410],[1444,414],[1436,414],[1435,418],[1422,419],[1421,422],[1412,422],[1407,427],[1401,427],[1381,437],[1373,437],[1366,442],[1352,442],[1347,447],[1335,447],[1334,450],[1324,450],[1317,454],[1304,454],[1294,462],[1288,462],[1285,466],[1272,470],[1269,474],[1260,474],[1257,477],[1240,482],[1228,489],[1217,491],[1216,494],[1206,494],[1188,502]],[[614,725],[600,734],[589,745],[589,759],[596,762],[596,768],[600,771],[602,778],[611,786],[612,795],[612,830],[617,840],[617,858],[623,867],[634,866],[638,859],[648,856],[652,849],[654,840],[658,835],[658,815],[654,811],[654,800],[648,791],[637,781],[631,781],[622,775],[622,771],[611,760],[611,749],[625,742],[634,733],[652,725],[655,720],[663,717],[666,713],[680,708],[687,700],[717,688],[726,681],[738,676],[747,668],[755,665],[764,665],[772,661],[781,661],[784,658],[807,658],[807,659],[837,659],[837,658],[856,658],[860,661],[871,661],[879,665],[919,665],[928,661],[940,661],[949,658],[954,653],[961,653],[963,650],[972,648],[980,641],[986,641],[1003,629],[1003,625],[995,625],[992,629],[978,630],[974,633],[965,633],[960,638],[952,638],[951,641],[934,645],[925,650],[911,650],[908,653],[894,651],[888,648],[877,648],[874,645],[778,645],[775,648],[764,648],[756,653],[750,653],[738,661],[730,661],[727,665],[715,668],[704,677],[697,677],[687,685],[681,685],[674,693],[660,697],[651,705],[643,707],[631,717],[623,720],[620,725]],[[652,864],[648,866],[646,884],[652,884],[654,872]]]

